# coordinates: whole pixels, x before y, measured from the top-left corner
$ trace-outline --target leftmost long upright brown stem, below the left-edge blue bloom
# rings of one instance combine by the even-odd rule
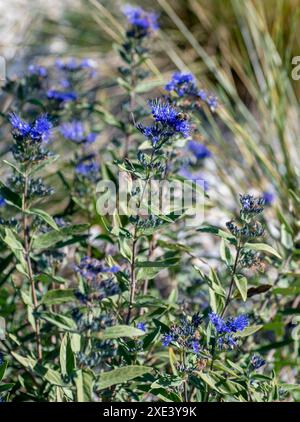
[[[32,295],[32,301],[33,301],[33,309],[34,311],[38,308],[38,300],[35,290],[35,282],[34,282],[34,276],[32,271],[32,265],[31,265],[31,259],[30,259],[30,226],[28,224],[28,219],[26,215],[26,208],[27,208],[27,191],[28,191],[28,175],[25,172],[24,175],[24,192],[22,195],[22,212],[23,212],[23,230],[24,230],[24,254],[25,254],[25,260],[27,264],[27,270],[28,270],[28,277],[30,281],[31,286],[31,295]],[[36,335],[36,349],[37,349],[37,358],[38,360],[42,360],[43,353],[42,353],[42,344],[41,344],[41,327],[40,327],[40,321],[38,318],[34,316],[34,324],[35,324],[35,335]]]

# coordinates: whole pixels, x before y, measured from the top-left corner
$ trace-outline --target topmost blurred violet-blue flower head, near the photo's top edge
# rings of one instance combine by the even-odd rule
[[[147,12],[138,6],[126,5],[122,9],[129,24],[132,26],[131,36],[145,37],[159,28],[158,16],[154,12]]]

